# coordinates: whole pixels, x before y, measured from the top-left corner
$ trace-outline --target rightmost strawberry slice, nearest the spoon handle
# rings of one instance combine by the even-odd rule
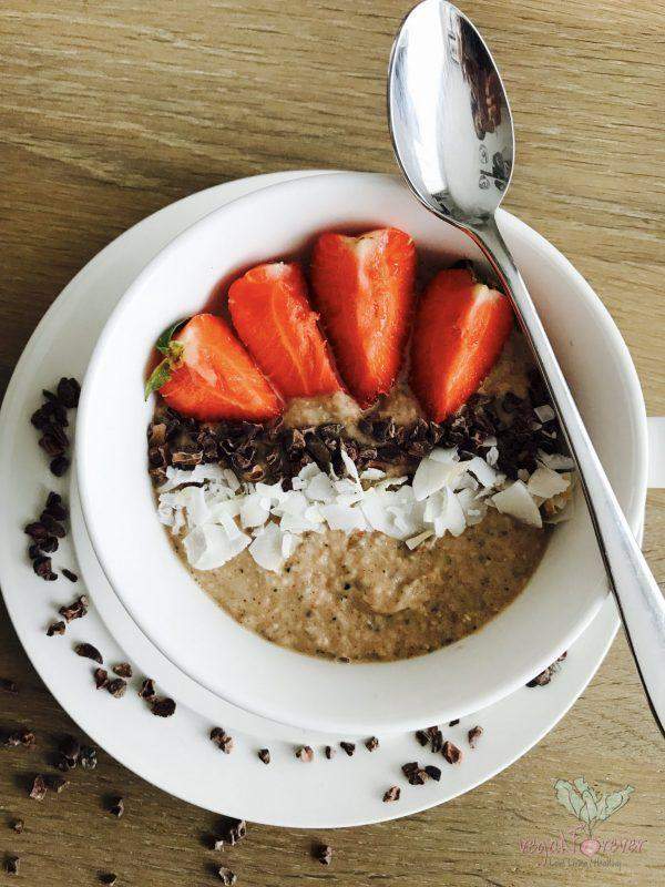
[[[411,389],[431,419],[442,421],[478,390],[512,325],[509,299],[471,272],[437,274],[416,312],[410,369]]]

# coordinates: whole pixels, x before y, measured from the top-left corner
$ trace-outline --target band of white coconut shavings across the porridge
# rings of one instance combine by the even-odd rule
[[[546,414],[545,414],[546,415]],[[380,532],[411,551],[428,540],[464,532],[480,523],[488,508],[542,527],[564,519],[572,460],[538,453],[533,473],[524,469],[510,481],[497,469],[495,440],[484,458],[462,459],[437,448],[419,462],[413,480],[387,477],[376,468],[358,469],[342,449],[345,477],[314,462],[284,489],[277,483],[242,481],[231,469],[170,467],[158,490],[157,514],[175,536],[183,534],[187,560],[196,570],[223,567],[245,549],[265,570],[279,572],[304,536],[336,530]]]

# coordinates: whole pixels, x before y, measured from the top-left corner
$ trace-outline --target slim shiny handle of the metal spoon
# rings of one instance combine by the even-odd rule
[[[610,486],[529,290],[494,220],[470,232],[510,295],[576,462],[610,585],[653,715],[665,735],[665,599]]]

